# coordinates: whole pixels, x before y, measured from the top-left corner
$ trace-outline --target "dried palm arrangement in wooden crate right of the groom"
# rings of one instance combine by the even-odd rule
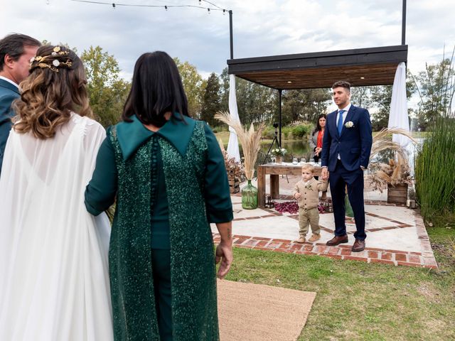
[[[412,184],[410,166],[407,153],[402,146],[390,139],[390,134],[402,134],[407,136],[413,144],[417,141],[404,129],[382,129],[373,137],[370,160],[380,151],[391,150],[395,152],[395,158],[388,163],[370,163],[370,185],[373,189],[382,190],[387,188],[387,202],[406,204],[407,187]]]

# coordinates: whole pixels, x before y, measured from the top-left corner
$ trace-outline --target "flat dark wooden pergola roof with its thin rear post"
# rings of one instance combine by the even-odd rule
[[[407,63],[407,45],[230,59],[228,73],[278,90],[281,146],[282,90],[330,88],[338,80],[391,85],[401,62]]]

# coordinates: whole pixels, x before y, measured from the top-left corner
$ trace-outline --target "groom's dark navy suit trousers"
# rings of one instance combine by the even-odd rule
[[[336,162],[335,171],[330,172],[330,192],[332,195],[333,216],[335,217],[335,235],[346,234],[346,207],[344,205],[346,185],[348,185],[348,198],[353,207],[355,239],[363,240],[365,234],[365,205],[363,202],[363,171],[348,171],[340,160]]]

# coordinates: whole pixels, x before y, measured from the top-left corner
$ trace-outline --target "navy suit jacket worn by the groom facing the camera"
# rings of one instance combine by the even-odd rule
[[[336,114],[338,110],[327,115],[326,130],[322,143],[321,165],[327,166],[328,171],[335,171],[338,153],[341,163],[348,171],[356,171],[360,166],[368,167],[370,160],[371,135],[370,114],[367,109],[350,106],[343,124],[341,134],[338,134]],[[347,122],[353,122],[351,128]]]

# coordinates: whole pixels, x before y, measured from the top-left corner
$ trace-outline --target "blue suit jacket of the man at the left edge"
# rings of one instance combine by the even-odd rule
[[[11,103],[19,96],[17,87],[10,82],[6,82],[6,80],[0,79],[0,172],[6,141],[8,140],[9,131],[13,125],[11,117],[14,116],[14,112],[11,109]]]

